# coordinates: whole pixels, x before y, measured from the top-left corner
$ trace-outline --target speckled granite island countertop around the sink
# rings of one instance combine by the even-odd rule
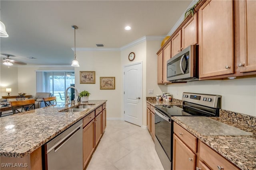
[[[106,101],[89,100],[86,104],[94,107],[82,112],[63,112],[68,108],[49,106],[0,117],[0,156],[30,154]]]

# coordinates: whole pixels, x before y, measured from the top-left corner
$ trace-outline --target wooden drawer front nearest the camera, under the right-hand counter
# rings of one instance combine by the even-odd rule
[[[198,150],[200,160],[207,164],[210,169],[218,169],[218,167],[223,167],[224,170],[239,170],[238,167],[201,141],[198,143]]]

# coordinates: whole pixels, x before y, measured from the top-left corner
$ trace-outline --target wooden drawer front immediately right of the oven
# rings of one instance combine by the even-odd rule
[[[174,133],[184,142],[190,149],[195,153],[197,152],[197,138],[186,131],[183,127],[174,122],[173,124]]]

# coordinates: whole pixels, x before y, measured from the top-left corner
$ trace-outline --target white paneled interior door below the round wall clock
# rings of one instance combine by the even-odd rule
[[[142,125],[142,63],[124,66],[124,120]]]

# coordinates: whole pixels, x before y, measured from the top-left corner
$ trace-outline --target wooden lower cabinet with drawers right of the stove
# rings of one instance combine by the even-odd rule
[[[239,170],[237,166],[174,122],[173,170]]]

